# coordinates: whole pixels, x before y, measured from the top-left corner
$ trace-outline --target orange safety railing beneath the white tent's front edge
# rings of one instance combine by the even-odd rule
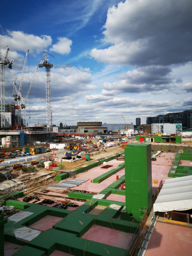
[[[192,215],[183,212],[164,212],[164,221],[177,224],[192,224]]]

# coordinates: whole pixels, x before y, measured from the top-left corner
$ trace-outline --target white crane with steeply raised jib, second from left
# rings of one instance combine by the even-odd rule
[[[20,105],[20,101],[21,101],[21,98],[22,98],[21,89],[22,89],[22,85],[23,85],[23,79],[24,79],[24,74],[25,74],[25,69],[26,69],[26,63],[27,63],[28,55],[29,55],[29,49],[27,49],[26,55],[25,55],[25,60],[24,60],[24,64],[23,64],[23,72],[22,72],[22,75],[21,75],[19,90],[17,90],[16,83],[15,82],[13,83],[13,98],[14,98],[15,101],[18,101],[17,102],[18,118],[19,118],[18,121],[19,121],[20,125],[21,125],[21,105]]]

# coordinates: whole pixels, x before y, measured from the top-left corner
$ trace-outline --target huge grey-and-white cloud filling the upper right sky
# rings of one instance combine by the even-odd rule
[[[97,61],[124,65],[170,65],[192,60],[190,0],[126,0],[108,9],[106,49],[92,49]]]

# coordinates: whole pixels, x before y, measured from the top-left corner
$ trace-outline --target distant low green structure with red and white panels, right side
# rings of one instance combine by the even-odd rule
[[[154,136],[136,136],[136,140],[140,142],[181,143],[181,139],[181,136],[170,136],[162,134],[154,134]]]

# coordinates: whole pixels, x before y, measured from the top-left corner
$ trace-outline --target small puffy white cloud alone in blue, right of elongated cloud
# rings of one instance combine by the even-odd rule
[[[69,54],[71,51],[71,45],[72,45],[72,41],[68,38],[57,38],[58,41],[56,44],[52,45],[52,48],[50,48],[49,50],[52,52],[57,52],[60,53],[62,55],[64,54]]]

